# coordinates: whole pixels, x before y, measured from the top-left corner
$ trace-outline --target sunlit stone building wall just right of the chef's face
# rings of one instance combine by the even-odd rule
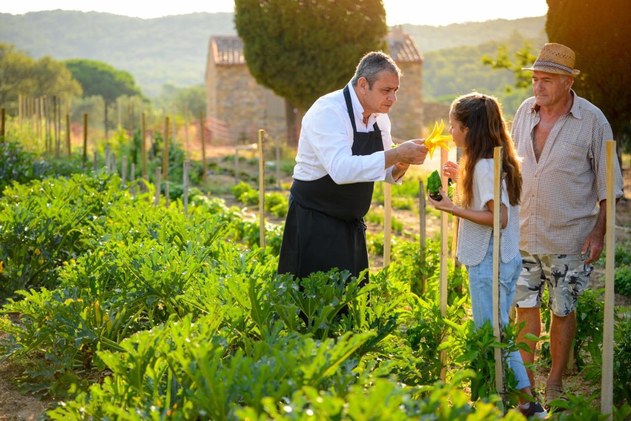
[[[423,121],[422,63],[398,63],[403,71],[397,101],[388,113],[392,122],[393,138],[416,139],[421,136]]]

